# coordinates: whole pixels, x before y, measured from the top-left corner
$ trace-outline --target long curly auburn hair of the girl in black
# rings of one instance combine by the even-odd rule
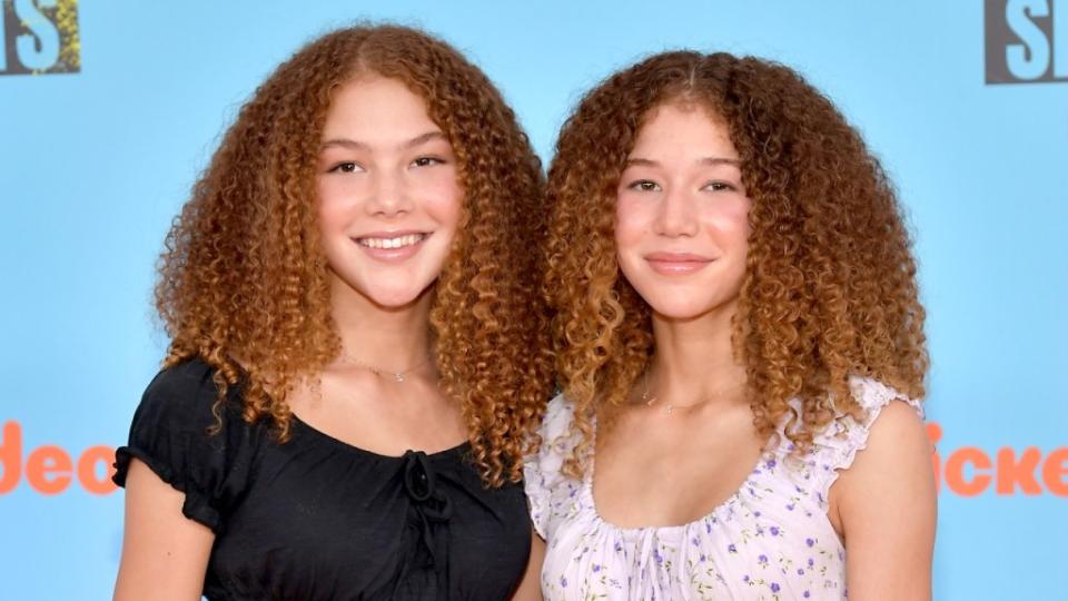
[[[552,386],[548,317],[530,252],[546,230],[541,162],[486,76],[445,42],[396,26],[330,32],[241,108],[167,236],[156,306],[165,367],[200,357],[220,404],[289,436],[286,395],[338,356],[315,165],[332,92],[373,72],[421,96],[458,161],[459,228],[431,308],[442,388],[458,402],[490,486],[515,482]]]

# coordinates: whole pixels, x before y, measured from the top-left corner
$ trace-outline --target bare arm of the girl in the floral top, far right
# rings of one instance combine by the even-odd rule
[[[934,476],[927,432],[911,407],[893,402],[882,410],[829,501],[852,601],[931,598]]]

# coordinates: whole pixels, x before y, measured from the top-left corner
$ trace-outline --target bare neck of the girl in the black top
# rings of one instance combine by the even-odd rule
[[[378,305],[338,277],[332,277],[330,307],[349,361],[400,372],[431,356],[433,286],[407,305]]]

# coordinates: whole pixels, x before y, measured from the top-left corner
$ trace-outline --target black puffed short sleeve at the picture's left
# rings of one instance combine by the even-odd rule
[[[116,451],[115,483],[126,484],[130,462],[144,462],[164,482],[185,493],[181,511],[216,534],[234,501],[245,491],[257,445],[254,428],[240,417],[237,391],[221,407],[222,427],[212,406],[218,388],[212,371],[194,359],[160,372],[134,414],[129,443]]]

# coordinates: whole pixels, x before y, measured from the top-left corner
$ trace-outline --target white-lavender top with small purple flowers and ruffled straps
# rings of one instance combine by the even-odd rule
[[[828,490],[890,401],[922,414],[874,380],[854,377],[850,386],[867,420],[832,423],[800,457],[789,456],[793,447],[780,436],[723,504],[665,528],[619,528],[597,515],[591,470],[581,481],[561,472],[578,439],[570,433],[571,403],[554,398],[542,449],[525,465],[534,528],[548,544],[545,599],[844,599],[846,553],[827,516]]]

